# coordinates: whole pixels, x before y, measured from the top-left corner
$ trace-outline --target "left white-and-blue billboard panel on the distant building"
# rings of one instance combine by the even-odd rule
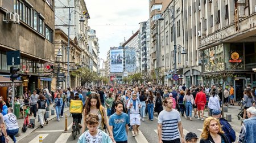
[[[123,72],[123,50],[110,50],[110,72]]]

